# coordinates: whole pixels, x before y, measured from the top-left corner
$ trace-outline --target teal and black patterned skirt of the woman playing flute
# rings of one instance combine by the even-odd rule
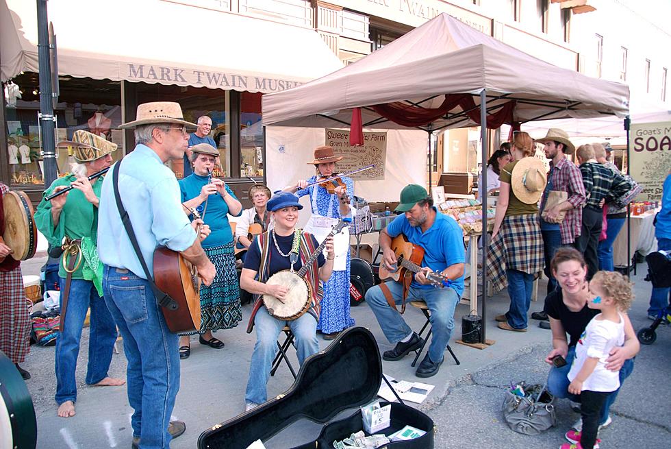
[[[216,276],[209,286],[201,284],[200,331],[183,335],[234,328],[242,320],[240,282],[238,282],[234,249],[233,242],[205,248],[205,254],[216,268]]]

